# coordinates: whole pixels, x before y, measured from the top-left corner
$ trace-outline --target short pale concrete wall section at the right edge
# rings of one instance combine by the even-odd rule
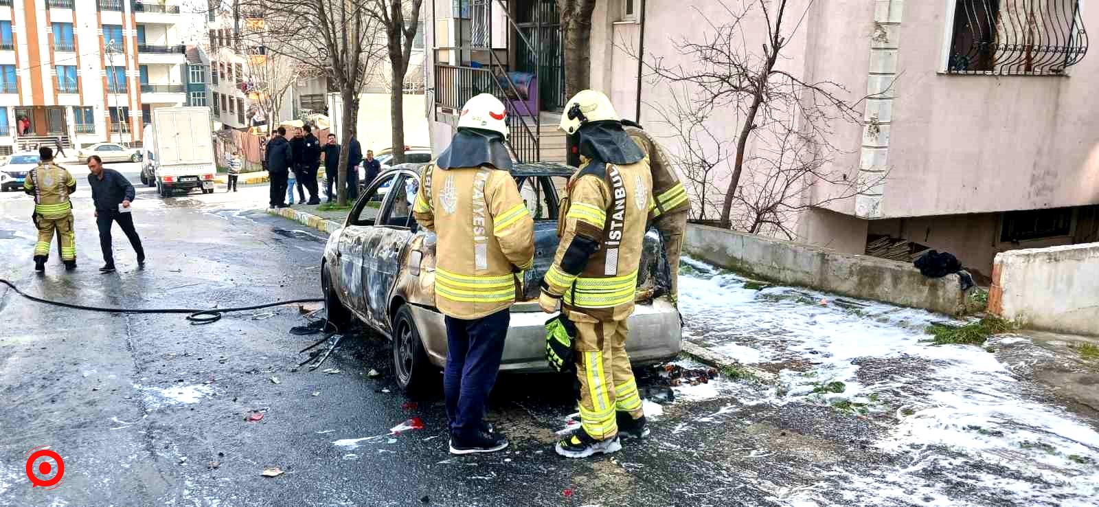
[[[1099,335],[1099,243],[996,255],[988,311],[1022,326]]]

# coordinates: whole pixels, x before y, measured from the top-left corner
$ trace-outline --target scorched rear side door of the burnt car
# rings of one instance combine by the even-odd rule
[[[404,265],[409,241],[419,229],[412,217],[412,203],[420,188],[419,176],[411,170],[400,170],[396,176],[366,246],[366,284],[370,287],[368,317],[373,324],[387,330],[393,285]]]

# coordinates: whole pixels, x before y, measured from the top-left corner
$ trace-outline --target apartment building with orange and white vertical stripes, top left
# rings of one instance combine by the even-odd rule
[[[160,1],[0,0],[0,151],[140,142],[154,109],[188,100],[188,15]]]

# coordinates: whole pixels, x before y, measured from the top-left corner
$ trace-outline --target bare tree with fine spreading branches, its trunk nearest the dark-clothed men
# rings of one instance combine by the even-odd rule
[[[264,31],[280,43],[267,46],[268,55],[281,55],[328,77],[343,100],[341,114],[340,170],[336,188],[340,206],[346,206],[347,161],[351,133],[358,117],[358,92],[379,55],[379,29],[370,9],[376,0],[235,0],[240,12],[264,20]]]

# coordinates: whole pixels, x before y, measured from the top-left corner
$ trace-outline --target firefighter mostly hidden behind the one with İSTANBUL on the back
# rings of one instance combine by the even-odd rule
[[[637,123],[622,120],[622,125],[633,142],[648,155],[648,166],[653,174],[653,209],[650,210],[648,219],[660,233],[670,278],[668,296],[671,298],[671,304],[678,307],[679,255],[682,252],[684,231],[687,230],[690,199],[659,143]]]

